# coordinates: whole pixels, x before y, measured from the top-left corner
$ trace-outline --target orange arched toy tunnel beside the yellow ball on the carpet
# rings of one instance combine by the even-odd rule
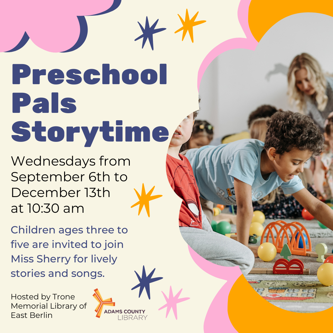
[[[280,227],[279,230],[278,227]],[[276,236],[274,236],[273,230],[275,230]],[[267,235],[265,236],[266,231]],[[291,238],[289,238],[288,231],[291,234]],[[306,248],[306,246],[304,246],[303,248],[299,247],[300,239],[302,239],[302,244],[306,244],[303,232],[308,239],[308,248]],[[284,221],[276,221],[267,224],[261,235],[260,244],[264,242],[265,237],[266,242],[268,242],[270,236],[272,237],[272,243],[273,245],[275,245],[277,252],[281,252],[283,248],[284,237],[286,237],[287,239],[287,244],[291,254],[306,255],[307,252],[312,252],[309,233],[304,227],[304,225],[299,222],[286,223]]]

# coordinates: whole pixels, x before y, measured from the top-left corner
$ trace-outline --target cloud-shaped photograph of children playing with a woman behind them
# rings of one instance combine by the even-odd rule
[[[297,26],[302,29],[296,34]],[[175,129],[166,158],[169,183],[182,198],[179,229],[186,243],[214,264],[239,266],[252,287],[262,280],[271,281],[270,287],[303,283],[302,292],[284,288],[286,295],[255,288],[273,304],[298,312],[321,311],[333,302],[321,289],[317,270],[323,261],[315,252],[324,244],[323,260],[333,254],[330,32],[332,17],[296,14],[276,23],[255,51],[217,56],[200,83],[200,110]],[[294,224],[277,240],[281,220]],[[222,222],[224,229],[217,227]],[[268,234],[270,223],[275,233]],[[295,227],[297,234],[295,223],[303,226]],[[269,260],[260,254],[265,243],[276,250]],[[301,260],[307,276],[270,275],[284,244],[288,260]],[[298,255],[295,249],[304,247],[308,255]]]

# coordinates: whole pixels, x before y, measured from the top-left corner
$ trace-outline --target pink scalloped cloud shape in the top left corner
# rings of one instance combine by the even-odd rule
[[[113,2],[114,0],[3,1],[0,7],[0,52],[13,49],[25,32],[43,50],[69,50],[80,36],[77,16],[104,12]]]

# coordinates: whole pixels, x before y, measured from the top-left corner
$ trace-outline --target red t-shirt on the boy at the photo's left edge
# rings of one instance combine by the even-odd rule
[[[185,156],[177,160],[166,155],[166,175],[176,194],[183,199],[179,211],[179,226],[202,229],[199,189],[193,170]]]

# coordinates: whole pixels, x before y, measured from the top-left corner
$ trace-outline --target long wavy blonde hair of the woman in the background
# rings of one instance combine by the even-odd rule
[[[291,62],[288,70],[288,92],[289,103],[296,103],[297,108],[301,113],[305,109],[305,97],[296,86],[295,72],[305,68],[308,73],[308,80],[316,90],[315,99],[318,103],[318,110],[324,111],[328,97],[326,96],[326,79],[324,73],[316,59],[307,53],[297,55]]]

